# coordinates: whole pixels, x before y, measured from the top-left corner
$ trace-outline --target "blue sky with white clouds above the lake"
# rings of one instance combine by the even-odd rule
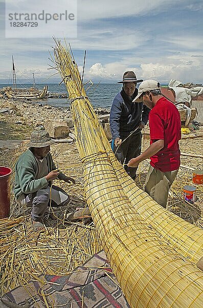
[[[60,0],[58,0],[60,2]],[[138,78],[203,83],[203,2],[200,0],[78,0],[78,35],[68,38],[84,80],[120,81],[133,70]],[[0,0],[0,80],[9,79],[14,55],[18,78],[45,79],[50,38],[5,38],[5,2]],[[55,76],[56,78],[56,76]],[[52,82],[52,79],[49,80]]]

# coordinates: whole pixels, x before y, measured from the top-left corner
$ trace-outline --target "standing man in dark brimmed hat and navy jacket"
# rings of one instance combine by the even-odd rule
[[[127,166],[129,160],[141,153],[142,134],[141,130],[147,124],[149,108],[143,103],[133,103],[138,94],[137,80],[133,71],[123,74],[123,87],[116,95],[110,109],[110,130],[112,134],[112,149],[121,164],[125,163],[125,170],[132,178],[136,178],[137,168]]]

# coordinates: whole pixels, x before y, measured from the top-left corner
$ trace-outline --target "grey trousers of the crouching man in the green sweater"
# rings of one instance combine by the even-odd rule
[[[49,202],[53,207],[63,206],[69,203],[70,197],[63,189],[53,185],[52,188],[48,186],[46,189],[33,192],[33,194],[24,194],[17,201],[22,206],[32,207],[31,218],[33,221],[41,221]]]

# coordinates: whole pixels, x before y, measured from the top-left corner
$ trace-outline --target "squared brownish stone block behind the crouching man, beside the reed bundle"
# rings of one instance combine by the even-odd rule
[[[44,128],[49,132],[52,138],[64,138],[69,136],[70,129],[65,122],[46,120],[44,122]]]

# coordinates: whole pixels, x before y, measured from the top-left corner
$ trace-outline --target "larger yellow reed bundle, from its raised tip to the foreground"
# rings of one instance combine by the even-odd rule
[[[122,172],[116,172],[113,153],[86,97],[75,61],[60,42],[56,41],[54,53],[72,102],[87,204],[128,303],[133,308],[183,307],[183,302],[185,307],[200,307],[203,272],[147,225],[130,202],[126,184],[120,179]],[[136,187],[132,182],[128,185],[129,189]],[[138,196],[141,192],[138,189]],[[156,204],[152,199],[148,202]]]

